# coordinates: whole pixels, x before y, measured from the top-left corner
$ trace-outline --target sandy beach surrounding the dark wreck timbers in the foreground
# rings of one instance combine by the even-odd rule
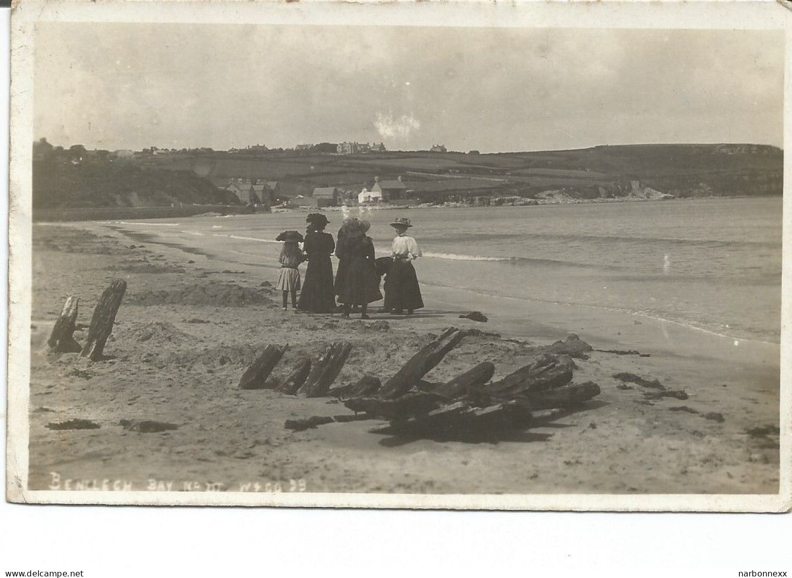
[[[156,480],[173,490],[208,483],[226,491],[258,483],[263,490],[278,483],[284,491],[309,492],[778,492],[778,435],[748,433],[779,425],[777,346],[742,344],[731,352],[714,337],[661,330],[648,321],[602,318],[581,327],[573,308],[538,305],[531,320],[515,320],[508,311],[487,310],[480,299],[453,292],[428,292],[428,308],[413,318],[284,313],[279,296],[261,286],[274,282],[272,269],[242,271],[176,247],[142,246],[96,223],[36,225],[32,241],[30,489],[55,482],[64,489],[67,480],[71,489],[103,480],[146,489]],[[112,358],[92,363],[78,354],[48,352],[46,341],[67,295],[80,297],[78,322],[88,325],[114,278],[125,279],[128,290],[105,347]],[[459,319],[472,308],[490,321]],[[592,352],[590,359],[577,360],[575,381],[600,384],[594,401],[545,427],[482,443],[369,432],[384,423],[379,421],[291,432],[284,428],[287,419],[351,412],[326,398],[237,387],[266,344],[291,344],[273,374],[279,377],[301,353],[315,355],[337,339],[354,344],[337,383],[364,372],[386,378],[449,325],[504,338],[466,337],[427,376],[431,381],[485,360],[495,364],[499,378],[523,365],[532,347],[567,331],[595,348],[640,349],[651,356]],[[75,337],[82,341],[85,335]],[[619,389],[612,376],[624,371],[658,378],[690,397],[653,401],[641,386]],[[99,428],[46,427],[72,419],[92,420]],[[177,428],[141,433],[124,429],[120,420],[158,420]]]

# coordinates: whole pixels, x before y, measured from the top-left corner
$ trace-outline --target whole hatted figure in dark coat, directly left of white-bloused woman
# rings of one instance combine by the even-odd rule
[[[370,226],[367,221],[349,219],[338,235],[336,254],[345,265],[343,272],[339,265],[336,286],[344,317],[349,317],[351,306],[360,306],[360,318],[368,319],[368,304],[383,299],[374,264],[374,243],[366,235]]]

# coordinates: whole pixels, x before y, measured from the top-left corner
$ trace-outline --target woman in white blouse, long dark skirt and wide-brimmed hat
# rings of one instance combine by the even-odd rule
[[[411,315],[413,310],[424,306],[421,287],[418,286],[418,278],[412,263],[423,253],[417,241],[406,234],[413,226],[409,219],[406,217],[395,219],[390,226],[396,230],[396,238],[391,246],[393,264],[390,265],[385,277],[385,310],[397,315],[403,314],[406,310],[407,314]]]

